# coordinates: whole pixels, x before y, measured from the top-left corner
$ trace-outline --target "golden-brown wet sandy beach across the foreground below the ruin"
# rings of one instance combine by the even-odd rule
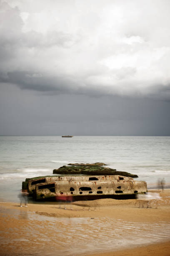
[[[74,202],[67,210],[0,202],[0,255],[168,256],[170,189],[160,195],[158,209],[138,208],[135,199]]]

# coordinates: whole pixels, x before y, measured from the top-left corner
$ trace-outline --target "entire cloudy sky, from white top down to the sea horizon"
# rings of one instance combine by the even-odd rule
[[[0,135],[170,136],[169,0],[0,0]]]

